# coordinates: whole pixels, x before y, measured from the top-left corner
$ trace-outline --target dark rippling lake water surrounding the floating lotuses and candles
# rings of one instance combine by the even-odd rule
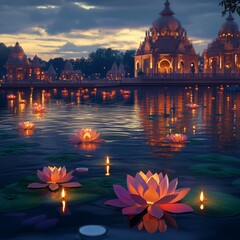
[[[79,227],[89,224],[104,225],[104,239],[112,240],[239,238],[240,92],[222,86],[67,90],[0,91],[1,239],[80,239]],[[16,98],[8,99],[11,93]],[[46,110],[33,112],[34,103]],[[34,129],[19,130],[23,121]],[[83,128],[104,141],[69,143]],[[175,133],[187,142],[168,143]],[[73,172],[82,187],[65,188],[63,199],[61,187],[27,188],[41,182],[36,173],[44,166],[88,172]],[[113,184],[126,188],[127,175],[149,170],[191,188],[181,202],[194,211],[166,213],[161,225],[104,204],[116,198]]]

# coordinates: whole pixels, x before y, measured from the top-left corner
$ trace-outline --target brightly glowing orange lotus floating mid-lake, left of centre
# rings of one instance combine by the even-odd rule
[[[100,133],[90,128],[83,128],[77,130],[74,136],[69,139],[69,142],[72,144],[81,144],[81,143],[100,143],[104,140],[99,138]]]

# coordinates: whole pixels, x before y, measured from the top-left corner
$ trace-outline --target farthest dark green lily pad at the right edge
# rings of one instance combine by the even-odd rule
[[[203,154],[203,155],[191,157],[191,159],[196,161],[205,161],[205,162],[219,162],[219,163],[239,162],[240,163],[239,158],[227,156],[227,155],[221,155],[221,154]]]

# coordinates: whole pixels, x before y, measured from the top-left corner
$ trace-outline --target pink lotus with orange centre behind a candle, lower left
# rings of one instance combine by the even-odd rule
[[[65,167],[44,167],[43,171],[37,170],[38,178],[44,183],[33,182],[28,185],[28,188],[44,188],[49,187],[54,191],[59,188],[59,185],[63,187],[81,187],[78,182],[69,182],[73,176],[73,171],[67,173]]]

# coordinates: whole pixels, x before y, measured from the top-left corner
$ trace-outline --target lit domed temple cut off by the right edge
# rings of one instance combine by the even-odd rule
[[[204,72],[240,73],[240,32],[231,13],[203,53]]]

